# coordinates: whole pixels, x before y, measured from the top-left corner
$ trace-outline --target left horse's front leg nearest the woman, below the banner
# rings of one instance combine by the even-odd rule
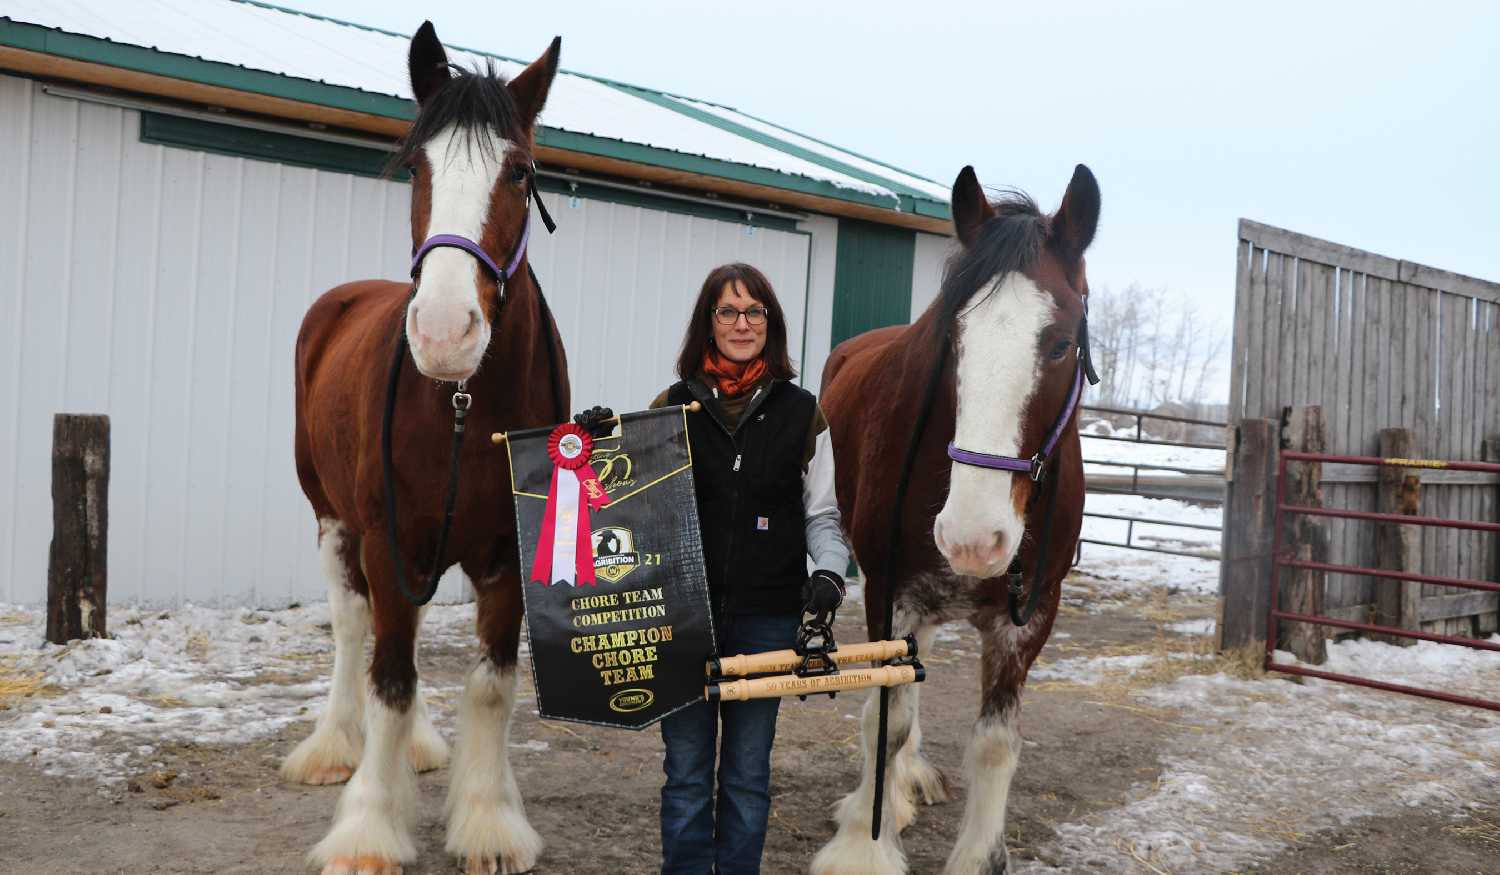
[[[516,653],[520,645],[520,575],[474,578],[484,656],[470,671],[459,705],[459,738],[448,785],[447,849],[466,875],[530,872],[542,836],[526,821],[510,768],[510,719],[516,708]]]

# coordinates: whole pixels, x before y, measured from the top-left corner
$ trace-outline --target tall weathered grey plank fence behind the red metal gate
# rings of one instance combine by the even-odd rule
[[[1406,428],[1414,456],[1484,459],[1500,435],[1500,284],[1240,219],[1232,434],[1244,420],[1281,422],[1287,408],[1304,405],[1323,408],[1330,453],[1380,455],[1380,429]],[[1372,468],[1323,468],[1326,506],[1377,509]],[[1500,510],[1496,485],[1492,474],[1428,471],[1422,512],[1494,521]],[[1232,483],[1226,533],[1236,525],[1233,491]],[[1374,564],[1374,525],[1329,522],[1330,561]],[[1496,539],[1455,530],[1428,533],[1422,572],[1500,579]],[[1224,573],[1228,591],[1230,563]],[[1372,584],[1370,578],[1330,576],[1324,612],[1368,620],[1377,591]],[[1440,587],[1422,590],[1424,629],[1460,635],[1496,630],[1500,596],[1455,600]]]

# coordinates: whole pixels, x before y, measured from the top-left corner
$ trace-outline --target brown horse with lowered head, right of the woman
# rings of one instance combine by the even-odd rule
[[[982,642],[980,719],[966,759],[969,800],[948,875],[998,873],[1006,866],[1005,800],[1022,747],[1022,684],[1052,632],[1082,525],[1074,405],[1086,369],[1083,252],[1098,215],[1098,183],[1083,165],[1052,216],[1020,194],[988,203],[974,170],[964,168],[952,188],[962,249],[938,299],[910,326],[842,344],[824,371],[838,509],[866,572],[870,636],[885,633],[890,591],[894,633],[915,633],[921,653],[930,653],[939,623],[960,617],[974,623]],[[909,492],[898,509],[897,564],[886,567],[897,485],[930,386],[936,387],[930,419],[915,437]],[[960,449],[954,452],[950,441]],[[1054,446],[1038,483],[1018,468],[1029,468],[1048,443]],[[963,459],[970,461],[958,464]],[[1016,473],[993,470],[998,465],[986,459],[1017,462]],[[1047,491],[1054,492],[1034,501]],[[1040,609],[1020,626],[1008,611],[1006,570],[1022,570],[1016,579],[1034,591],[1042,587]],[[880,839],[870,837],[879,711],[872,696],[864,708],[864,776],[838,806],[838,833],[813,860],[816,875],[904,872],[897,836],[915,819],[916,797],[927,803],[948,797],[942,773],[920,750],[916,690],[902,686],[890,693],[886,750],[894,759],[885,776]]]

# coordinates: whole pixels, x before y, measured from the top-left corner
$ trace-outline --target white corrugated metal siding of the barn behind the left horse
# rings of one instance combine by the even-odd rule
[[[406,186],[142,144],[138,113],[12,77],[0,119],[0,165],[20,180],[0,210],[0,599],[45,597],[62,411],[111,417],[117,602],[321,599],[291,459],[292,345],[322,290],[405,275]],[[561,228],[532,239],[532,264],[574,407],[638,408],[664,387],[723,261],[766,272],[801,350],[807,234],[550,201]]]

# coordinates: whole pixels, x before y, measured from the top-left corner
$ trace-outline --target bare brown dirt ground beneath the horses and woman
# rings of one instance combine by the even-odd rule
[[[856,611],[846,611],[855,614]],[[1164,615],[1166,612],[1166,615]],[[1203,597],[1128,596],[1106,609],[1065,609],[1062,633],[1044,660],[1098,651],[1149,653],[1162,644],[1162,620],[1206,618]],[[855,641],[852,624],[843,639]],[[1065,635],[1065,636],[1064,636]],[[962,759],[976,713],[976,639],[958,630],[926,662],[922,690],[927,755],[960,786],[954,801],[927,807],[904,836],[915,873],[940,872],[963,812]],[[1170,644],[1170,647],[1182,647]],[[1194,647],[1194,645],[1188,645]],[[1196,647],[1203,647],[1197,644]],[[424,648],[424,680],[460,683],[472,650]],[[310,671],[327,671],[314,666]],[[1287,683],[1266,680],[1263,683]],[[524,693],[530,698],[530,684]],[[855,783],[861,695],[783,704],[774,755],[774,804],[764,870],[795,873],[832,834],[834,801]],[[456,702],[434,702],[440,726],[452,732]],[[447,705],[447,707],[446,707]],[[657,864],[660,735],[542,722],[518,708],[512,761],[532,824],[548,842],[537,872],[644,873]],[[444,719],[447,714],[447,719]],[[312,714],[309,713],[309,720]],[[124,786],[62,780],[38,768],[0,764],[0,870],[51,872],[306,872],[303,854],[327,827],[339,788],[292,786],[276,774],[280,758],[312,728],[296,723],[248,746],[170,744],[130,767]],[[1008,842],[1012,869],[1068,872],[1152,872],[1173,875],[1130,843],[1108,863],[1077,864],[1047,848],[1059,822],[1122,806],[1162,771],[1164,747],[1192,726],[1155,708],[1092,686],[1035,683],[1023,704],[1026,747],[1011,791]],[[452,735],[450,735],[452,741]],[[544,741],[546,749],[536,741]],[[528,747],[526,743],[531,743]],[[1214,743],[1208,738],[1203,743]],[[1252,779],[1252,777],[1251,777]],[[442,852],[442,794],[447,770],[420,777],[422,858],[410,873],[453,872]],[[1288,815],[1286,848],[1250,870],[1334,872],[1500,872],[1500,789],[1472,809],[1468,821],[1408,809],[1334,830],[1302,831]],[[1488,824],[1488,825],[1486,825]]]

